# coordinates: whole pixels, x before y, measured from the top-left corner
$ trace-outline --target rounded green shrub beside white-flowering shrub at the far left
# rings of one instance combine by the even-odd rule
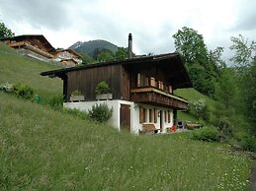
[[[13,92],[16,96],[32,100],[34,96],[34,90],[28,85],[19,83],[13,86]]]

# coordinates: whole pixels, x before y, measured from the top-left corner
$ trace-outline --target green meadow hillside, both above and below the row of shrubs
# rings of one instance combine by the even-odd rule
[[[57,79],[39,76],[54,67],[1,54],[0,82],[22,81],[43,96],[61,92]],[[3,93],[0,118],[3,190],[247,189],[249,159],[190,133],[134,137]]]

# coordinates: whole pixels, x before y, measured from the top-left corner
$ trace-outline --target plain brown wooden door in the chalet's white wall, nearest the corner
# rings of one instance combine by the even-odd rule
[[[121,104],[120,128],[130,131],[130,105],[128,104]]]

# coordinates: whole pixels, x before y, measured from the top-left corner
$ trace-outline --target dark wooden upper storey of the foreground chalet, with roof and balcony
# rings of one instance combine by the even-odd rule
[[[95,87],[105,81],[113,99],[186,110],[188,102],[174,96],[173,90],[192,87],[177,53],[48,71],[41,75],[63,80],[65,101],[70,100],[75,90],[79,90],[87,101],[95,100]]]

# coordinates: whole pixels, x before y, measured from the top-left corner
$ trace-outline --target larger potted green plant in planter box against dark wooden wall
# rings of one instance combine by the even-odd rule
[[[97,100],[112,99],[110,87],[105,81],[96,86],[95,94]]]

